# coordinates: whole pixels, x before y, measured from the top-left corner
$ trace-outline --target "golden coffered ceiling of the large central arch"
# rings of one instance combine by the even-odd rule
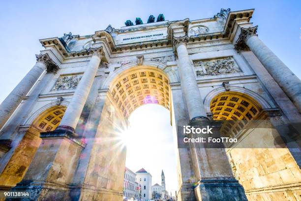
[[[155,67],[138,66],[123,71],[110,84],[109,93],[125,117],[144,104],[170,109],[169,79]]]

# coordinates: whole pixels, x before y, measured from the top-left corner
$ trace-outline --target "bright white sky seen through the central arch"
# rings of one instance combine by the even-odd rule
[[[161,105],[146,104],[130,116],[130,128],[124,135],[127,145],[126,167],[136,172],[142,167],[152,176],[152,185],[161,185],[163,169],[166,190],[178,190],[176,149],[169,110]]]

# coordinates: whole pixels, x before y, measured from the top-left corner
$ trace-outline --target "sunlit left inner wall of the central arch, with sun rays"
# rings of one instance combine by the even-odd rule
[[[127,124],[108,94],[90,154],[80,200],[122,200],[126,148],[121,135]],[[89,191],[96,189],[96,191]]]

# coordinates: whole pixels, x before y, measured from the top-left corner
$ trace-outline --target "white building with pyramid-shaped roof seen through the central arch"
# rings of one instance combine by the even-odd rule
[[[136,171],[136,182],[141,185],[141,199],[151,199],[151,174],[144,168]]]

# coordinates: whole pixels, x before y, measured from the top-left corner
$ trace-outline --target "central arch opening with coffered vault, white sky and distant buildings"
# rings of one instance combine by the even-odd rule
[[[124,118],[125,132],[120,132],[126,147],[125,166],[133,172],[144,168],[151,174],[151,185],[135,179],[141,185],[141,194],[127,192],[125,198],[151,199],[155,184],[163,186],[162,170],[166,177],[165,187],[157,192],[162,198],[177,190],[177,165],[175,144],[171,126],[171,90],[169,79],[157,67],[138,66],[121,72],[110,84],[109,97],[114,110]],[[137,178],[137,177],[136,177]],[[156,186],[157,187],[157,186]],[[165,191],[165,192],[163,192]],[[157,196],[157,194],[155,194]]]

